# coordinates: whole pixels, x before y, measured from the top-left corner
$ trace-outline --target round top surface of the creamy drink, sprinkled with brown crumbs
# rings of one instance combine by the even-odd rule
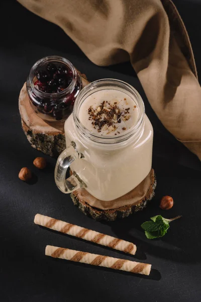
[[[120,135],[135,125],[138,116],[134,100],[114,89],[91,94],[79,110],[79,119],[84,127],[100,135]]]

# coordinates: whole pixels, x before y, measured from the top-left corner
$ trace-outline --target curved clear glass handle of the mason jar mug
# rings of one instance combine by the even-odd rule
[[[66,179],[66,172],[70,164],[78,159],[84,158],[82,153],[76,150],[76,144],[71,141],[70,145],[63,150],[57,159],[54,171],[54,179],[59,190],[65,194],[72,193],[73,191],[86,187],[85,183],[79,178],[76,172]]]

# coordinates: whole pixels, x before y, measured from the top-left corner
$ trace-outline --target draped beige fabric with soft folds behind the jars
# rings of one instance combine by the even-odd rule
[[[161,122],[201,159],[201,90],[186,30],[170,0],[19,2],[59,25],[95,64],[130,59]]]

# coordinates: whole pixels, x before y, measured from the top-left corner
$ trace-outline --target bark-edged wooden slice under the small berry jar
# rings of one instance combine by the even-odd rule
[[[85,74],[81,74],[81,77],[82,87],[85,87],[89,82]],[[32,147],[51,157],[58,157],[66,147],[64,121],[47,123],[41,119],[31,107],[26,90],[26,83],[20,92],[19,110],[22,128]]]

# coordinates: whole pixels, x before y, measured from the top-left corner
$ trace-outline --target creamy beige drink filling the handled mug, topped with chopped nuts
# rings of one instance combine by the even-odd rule
[[[102,84],[87,93],[84,88],[64,130],[66,147],[73,141],[82,155],[70,163],[70,169],[90,194],[109,201],[133,190],[149,174],[153,128],[133,87],[117,80],[100,81],[118,82],[118,88]]]

